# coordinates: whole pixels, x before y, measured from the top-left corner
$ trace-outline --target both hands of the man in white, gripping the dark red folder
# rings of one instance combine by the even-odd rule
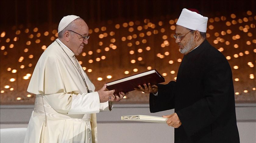
[[[128,92],[126,92],[126,93],[119,92],[119,94],[114,95],[115,90],[108,91],[108,89],[106,87],[107,87],[107,84],[104,84],[104,86],[100,90],[97,91],[99,94],[99,97],[100,97],[100,103],[107,102],[107,101],[118,102],[121,99],[123,99],[124,96],[126,96],[128,94]]]

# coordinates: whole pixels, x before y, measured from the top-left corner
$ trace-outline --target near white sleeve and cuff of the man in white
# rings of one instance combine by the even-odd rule
[[[48,94],[44,99],[57,112],[68,114],[91,114],[105,109],[106,104],[100,104],[98,92],[71,94]]]

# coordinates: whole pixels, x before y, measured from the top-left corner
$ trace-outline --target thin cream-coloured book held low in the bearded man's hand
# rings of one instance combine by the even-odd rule
[[[168,118],[156,117],[156,116],[147,116],[147,115],[130,115],[130,116],[121,116],[121,120],[153,122],[153,123],[166,123]]]

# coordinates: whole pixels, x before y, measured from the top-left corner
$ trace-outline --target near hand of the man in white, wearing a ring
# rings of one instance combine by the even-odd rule
[[[112,96],[114,96],[113,94],[115,90],[108,91],[106,87],[107,84],[104,84],[104,86],[97,91],[100,97],[100,103],[107,102],[108,100],[111,100],[110,98],[112,98]]]

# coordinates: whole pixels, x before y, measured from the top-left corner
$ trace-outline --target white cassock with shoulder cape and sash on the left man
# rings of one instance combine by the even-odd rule
[[[24,143],[97,142],[95,113],[111,110],[112,103],[100,103],[74,55],[56,39],[38,60],[27,90],[36,99]]]

